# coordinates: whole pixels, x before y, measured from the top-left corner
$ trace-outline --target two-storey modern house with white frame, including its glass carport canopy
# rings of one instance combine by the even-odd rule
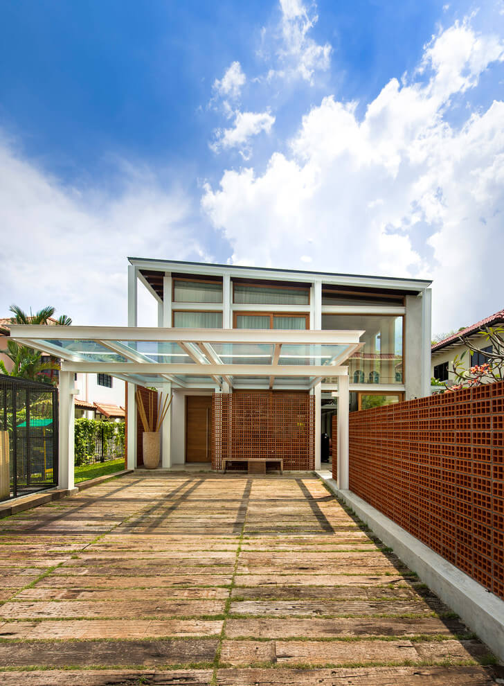
[[[138,281],[156,301],[155,327],[137,325]],[[333,452],[348,488],[349,409],[430,394],[430,284],[130,258],[127,327],[55,335],[19,326],[12,335],[61,355],[62,445],[73,435],[65,398],[73,402],[74,373],[127,381],[129,467],[141,456],[137,386],[172,394],[160,437],[165,468],[211,461],[221,469],[226,459],[253,456],[282,458],[289,470],[319,468],[321,434],[337,408]],[[91,403],[82,391],[80,398]],[[61,464],[60,484],[70,487],[71,466]]]

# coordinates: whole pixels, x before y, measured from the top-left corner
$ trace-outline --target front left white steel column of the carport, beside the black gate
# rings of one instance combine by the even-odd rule
[[[75,460],[75,407],[73,396],[77,393],[73,385],[73,373],[60,371],[59,383],[59,456],[57,486],[60,489],[74,488]]]

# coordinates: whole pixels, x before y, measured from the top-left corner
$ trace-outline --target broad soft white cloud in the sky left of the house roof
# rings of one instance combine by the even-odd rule
[[[206,258],[183,191],[127,167],[123,184],[118,197],[65,188],[0,140],[0,316],[53,305],[75,324],[125,325],[127,256]],[[156,324],[140,297],[140,323]]]

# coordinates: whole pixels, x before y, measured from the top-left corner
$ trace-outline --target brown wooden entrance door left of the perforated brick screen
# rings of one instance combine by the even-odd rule
[[[212,461],[212,396],[186,396],[186,462]]]

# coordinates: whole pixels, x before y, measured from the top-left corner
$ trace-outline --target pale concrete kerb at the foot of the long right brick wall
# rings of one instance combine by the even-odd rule
[[[435,553],[352,491],[340,491],[328,472],[316,475],[370,527],[420,579],[504,660],[504,601]]]

